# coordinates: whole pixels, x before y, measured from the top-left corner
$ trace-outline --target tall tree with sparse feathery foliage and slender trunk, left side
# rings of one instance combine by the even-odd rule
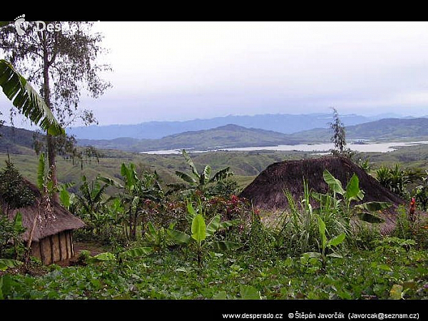
[[[46,106],[61,126],[70,126],[78,118],[86,125],[95,122],[92,111],[81,110],[79,106],[81,93],[86,91],[93,98],[103,94],[110,83],[103,81],[99,73],[110,67],[96,63],[96,58],[103,53],[100,46],[103,37],[91,30],[93,23],[25,22],[19,33],[14,24],[3,25],[0,49],[7,55],[6,59],[39,88]],[[51,179],[56,186],[56,139],[49,131],[46,137]],[[58,200],[57,193],[54,200]]]

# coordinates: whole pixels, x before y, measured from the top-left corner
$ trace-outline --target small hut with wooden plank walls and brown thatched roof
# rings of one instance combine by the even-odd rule
[[[73,257],[73,230],[85,224],[55,202],[50,202],[49,209],[36,185],[24,180],[36,199],[33,205],[11,210],[9,219],[13,220],[16,213],[22,214],[22,225],[26,231],[22,235],[28,245],[31,241],[30,255],[41,259],[49,265]],[[3,202],[1,202],[3,203]],[[4,204],[1,204],[4,208]]]

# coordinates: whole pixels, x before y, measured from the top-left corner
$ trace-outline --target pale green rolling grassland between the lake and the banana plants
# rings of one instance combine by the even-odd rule
[[[140,170],[154,170],[161,176],[163,183],[178,183],[180,180],[175,175],[175,170],[188,171],[188,165],[181,155],[147,155],[138,153],[127,153],[123,151],[102,151],[103,157],[99,163],[92,160],[91,163],[83,161],[73,165],[71,160],[57,158],[58,180],[61,183],[76,183],[77,190],[81,183],[81,175],[86,175],[88,179],[93,179],[96,175],[103,175],[110,178],[121,179],[121,164],[135,163]],[[285,159],[298,159],[301,153],[258,153],[258,152],[215,152],[215,153],[195,153],[191,154],[198,170],[203,170],[205,165],[211,165],[214,171],[230,166],[234,179],[238,181],[241,188],[248,185],[256,175],[264,170],[267,165]],[[11,161],[19,168],[24,177],[36,182],[37,166],[39,158],[34,152],[32,154],[9,155]],[[0,153],[0,166],[4,167],[7,159],[6,153]]]

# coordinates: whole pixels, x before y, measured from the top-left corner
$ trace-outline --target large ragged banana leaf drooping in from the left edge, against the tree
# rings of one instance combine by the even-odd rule
[[[0,86],[7,98],[26,118],[51,135],[65,133],[39,93],[4,59],[0,59]]]

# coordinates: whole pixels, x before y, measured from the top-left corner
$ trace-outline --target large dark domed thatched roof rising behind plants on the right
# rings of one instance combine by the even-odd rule
[[[405,203],[402,198],[384,188],[375,178],[348,158],[332,156],[273,163],[260,173],[240,196],[251,200],[253,205],[260,209],[283,210],[288,205],[284,190],[290,191],[295,200],[300,200],[304,193],[304,179],[310,190],[327,193],[328,185],[322,178],[322,172],[325,169],[340,180],[344,188],[355,173],[360,179],[360,189],[365,192],[363,202],[388,202],[392,203],[394,208]],[[394,217],[392,209],[382,215],[386,220],[385,223],[389,225],[388,228],[394,225]]]

